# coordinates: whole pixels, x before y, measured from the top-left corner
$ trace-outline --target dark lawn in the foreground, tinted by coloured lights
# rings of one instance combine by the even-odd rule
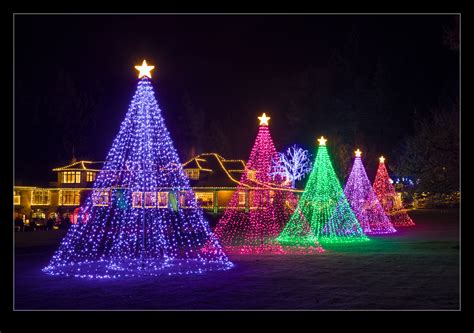
[[[233,256],[226,272],[120,280],[41,272],[60,232],[16,233],[15,309],[458,309],[459,214],[319,255]]]

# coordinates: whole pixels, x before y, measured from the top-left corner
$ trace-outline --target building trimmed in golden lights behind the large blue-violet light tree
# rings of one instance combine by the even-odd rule
[[[80,206],[93,189],[103,162],[74,161],[54,168],[56,181],[50,186],[14,186],[15,216],[57,218],[70,216],[76,222]],[[203,153],[183,164],[201,207],[219,213],[227,206],[245,170],[245,161],[228,160],[216,153]],[[248,204],[242,193],[242,207]],[[248,207],[247,207],[248,208]]]

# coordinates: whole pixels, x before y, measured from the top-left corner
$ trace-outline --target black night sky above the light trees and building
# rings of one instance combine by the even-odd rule
[[[133,66],[144,58],[156,66],[153,84],[173,139],[183,134],[177,119],[188,91],[229,136],[226,157],[248,157],[262,111],[272,117],[277,149],[300,141],[311,148],[324,124],[286,135],[284,82],[308,66],[325,68],[354,29],[365,63],[383,61],[404,106],[399,116],[407,125],[400,122],[398,134],[409,135],[415,108],[427,114],[446,89],[457,89],[446,85],[457,82],[459,54],[441,41],[452,23],[452,16],[16,16],[15,178],[53,180],[50,170],[71,159],[64,128],[33,102],[54,98],[58,66],[100,99],[88,133],[93,144],[79,146],[78,158],[105,158],[135,91]],[[380,144],[389,153],[393,141]]]

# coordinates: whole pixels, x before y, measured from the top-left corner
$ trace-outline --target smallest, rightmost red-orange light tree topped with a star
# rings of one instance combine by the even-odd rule
[[[408,216],[401,198],[397,195],[397,192],[395,192],[395,187],[385,167],[385,158],[381,156],[379,160],[379,168],[377,169],[373,188],[377,194],[377,198],[382,204],[385,214],[387,214],[392,224],[396,227],[415,225],[410,216]]]

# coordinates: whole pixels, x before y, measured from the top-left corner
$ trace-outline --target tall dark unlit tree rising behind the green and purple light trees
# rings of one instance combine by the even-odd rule
[[[375,174],[376,157],[399,140],[394,133],[405,121],[397,117],[403,99],[395,93],[383,55],[368,58],[358,35],[355,28],[348,31],[324,67],[310,65],[295,74],[281,97],[288,124],[284,134],[307,147],[314,147],[316,137],[327,136],[341,180],[349,175],[356,148],[366,152],[367,170]]]

